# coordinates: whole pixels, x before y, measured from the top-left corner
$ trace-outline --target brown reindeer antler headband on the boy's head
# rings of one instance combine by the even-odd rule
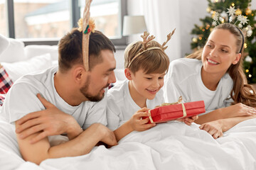
[[[161,47],[149,47],[148,42],[150,42],[151,40],[154,40],[155,37],[154,37],[154,35],[149,36],[149,33],[145,31],[144,34],[141,35],[141,37],[142,37],[142,39],[143,39],[143,41],[140,42],[140,43],[142,43],[142,45],[143,45],[142,50],[141,50],[137,55],[135,55],[135,56],[132,58],[132,60],[131,60],[131,62],[129,63],[129,65],[128,65],[127,68],[129,68],[129,67],[131,66],[132,62],[133,62],[137,57],[139,57],[139,55],[142,55],[144,52],[147,52],[147,51],[149,51],[149,50],[155,50],[155,49],[162,50],[162,51],[166,50],[166,48],[167,48],[168,46],[165,46],[165,45],[166,45],[166,43],[167,43],[169,40],[171,40],[171,36],[174,35],[175,30],[176,30],[176,29],[174,29],[171,33],[169,33],[169,34],[167,35],[167,40],[166,40],[166,42],[163,43],[163,45],[161,45]]]

